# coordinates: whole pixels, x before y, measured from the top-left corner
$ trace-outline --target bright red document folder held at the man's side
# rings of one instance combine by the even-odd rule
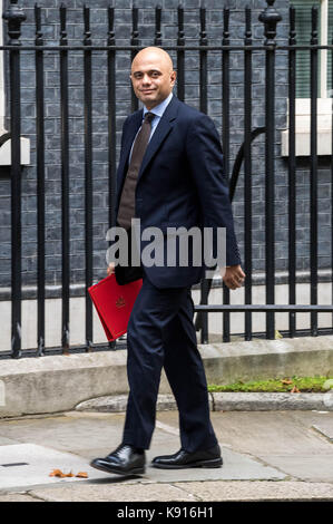
[[[126,333],[130,311],[141,285],[143,279],[119,285],[115,273],[111,273],[88,288],[109,341]]]

